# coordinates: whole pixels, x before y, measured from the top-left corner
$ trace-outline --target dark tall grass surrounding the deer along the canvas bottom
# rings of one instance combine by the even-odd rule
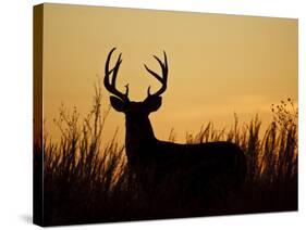
[[[244,126],[235,116],[228,131],[216,130],[209,123],[198,133],[187,133],[187,143],[228,140],[238,144],[246,154],[248,170],[238,193],[227,191],[225,199],[183,203],[175,195],[182,188],[171,181],[148,196],[128,171],[124,145],[118,143],[117,133],[109,143],[103,142],[109,108],[101,114],[100,92],[97,87],[93,110],[83,122],[76,108],[72,114],[60,108],[59,119],[54,120],[61,130],[60,142],[53,143],[45,135],[42,150],[35,145],[34,154],[44,154],[45,225],[297,209],[297,111],[290,99],[272,105],[274,122],[261,138],[257,116]],[[287,108],[290,105],[293,111]],[[173,130],[169,140],[175,140]]]

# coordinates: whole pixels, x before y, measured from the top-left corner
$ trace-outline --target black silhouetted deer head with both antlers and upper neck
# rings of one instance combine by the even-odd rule
[[[140,132],[138,135],[140,135],[143,137],[147,137],[147,135],[151,136],[152,130],[151,130],[151,127],[149,124],[148,115],[151,112],[155,112],[160,107],[160,105],[161,105],[160,95],[167,89],[168,63],[167,63],[166,52],[163,51],[164,63],[162,63],[159,58],[154,55],[154,58],[158,61],[158,63],[161,66],[161,71],[162,71],[161,76],[158,75],[157,73],[152,72],[150,68],[147,67],[147,65],[145,65],[145,68],[161,84],[161,88],[157,92],[151,94],[150,87],[148,87],[147,98],[142,102],[133,102],[133,101],[130,101],[130,99],[128,99],[128,85],[125,86],[124,93],[120,92],[115,88],[118,71],[122,63],[122,59],[121,59],[122,53],[120,53],[114,67],[110,69],[109,63],[110,63],[110,59],[111,59],[111,55],[114,50],[115,50],[115,48],[113,48],[108,54],[108,58],[106,61],[106,67],[105,67],[105,79],[103,79],[106,89],[110,93],[113,94],[110,97],[111,106],[115,111],[122,112],[125,114],[126,133],[130,130],[133,130],[133,132],[135,133],[135,130],[140,129],[140,130],[143,130],[144,133],[142,133],[142,131],[138,131],[138,132]],[[112,75],[111,79],[110,79],[110,75]]]

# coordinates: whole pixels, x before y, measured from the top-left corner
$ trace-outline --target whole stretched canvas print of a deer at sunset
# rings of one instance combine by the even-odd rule
[[[34,222],[297,210],[297,28],[34,7]]]

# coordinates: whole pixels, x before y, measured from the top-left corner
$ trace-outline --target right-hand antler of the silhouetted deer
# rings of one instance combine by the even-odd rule
[[[159,82],[161,82],[161,88],[154,94],[150,94],[150,87],[148,87],[148,97],[149,95],[160,95],[163,93],[167,89],[167,79],[168,79],[168,62],[167,62],[167,55],[166,52],[163,51],[163,58],[164,58],[164,63],[160,61],[156,55],[154,58],[158,61],[162,76],[159,76],[157,73],[152,72],[151,69],[148,68],[148,66],[145,64],[145,68],[152,75],[155,76],[156,79],[158,79]]]

